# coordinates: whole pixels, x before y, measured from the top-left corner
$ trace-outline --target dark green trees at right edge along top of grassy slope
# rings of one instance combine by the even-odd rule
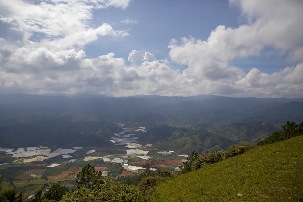
[[[292,122],[287,121],[285,125],[282,125],[281,131],[274,132],[269,137],[258,142],[257,146],[287,140],[291,137],[295,137],[297,135],[303,134],[302,131],[303,131],[303,122],[298,125],[294,121]]]

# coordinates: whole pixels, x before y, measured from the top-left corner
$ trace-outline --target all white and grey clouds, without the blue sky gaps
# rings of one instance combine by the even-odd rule
[[[169,57],[184,65],[175,70],[149,52],[133,50],[128,62],[110,52],[85,55],[86,44],[110,36],[128,36],[111,25],[92,25],[93,11],[126,9],[128,0],[32,3],[0,1],[0,91],[30,94],[155,94],[237,97],[303,96],[303,2],[231,0],[241,9],[243,24],[218,25],[206,41],[172,39]],[[124,24],[138,21],[124,20]],[[234,59],[259,56],[270,47],[296,65],[267,74],[257,68],[245,74]]]

